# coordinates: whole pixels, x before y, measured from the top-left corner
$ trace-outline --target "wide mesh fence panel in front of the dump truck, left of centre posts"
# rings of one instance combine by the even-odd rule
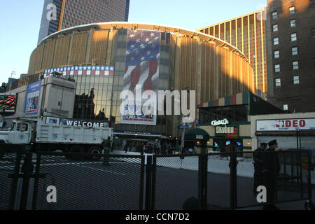
[[[39,172],[45,174],[35,190],[37,210],[142,209],[144,160],[141,156],[103,155],[99,161],[76,161],[66,159],[65,155],[37,153],[41,160]],[[107,160],[109,165],[104,162]],[[48,202],[49,186],[56,189],[56,202]]]

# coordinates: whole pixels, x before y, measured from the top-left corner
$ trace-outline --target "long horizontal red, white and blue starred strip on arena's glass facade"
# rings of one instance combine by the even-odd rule
[[[52,69],[45,69],[44,78],[52,76],[54,71],[61,73],[62,76],[113,76],[114,66],[105,65],[75,65],[63,66]]]

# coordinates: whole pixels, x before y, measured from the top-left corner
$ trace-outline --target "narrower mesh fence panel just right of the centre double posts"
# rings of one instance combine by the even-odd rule
[[[198,209],[200,155],[153,155],[152,207]]]

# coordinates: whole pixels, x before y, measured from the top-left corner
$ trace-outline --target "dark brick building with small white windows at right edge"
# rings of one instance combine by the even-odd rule
[[[315,0],[268,0],[268,101],[315,111]]]

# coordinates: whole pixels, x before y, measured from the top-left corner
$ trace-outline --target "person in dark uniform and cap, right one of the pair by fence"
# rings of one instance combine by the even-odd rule
[[[268,142],[269,148],[263,153],[262,174],[264,186],[267,190],[267,203],[264,204],[264,210],[277,210],[279,209],[274,205],[274,194],[276,190],[276,177],[280,171],[279,158],[276,153],[278,143],[276,139]]]

